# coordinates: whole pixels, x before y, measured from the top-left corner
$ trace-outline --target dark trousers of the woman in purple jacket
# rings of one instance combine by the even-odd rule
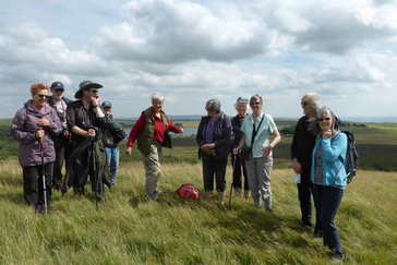
[[[23,167],[22,171],[23,193],[26,203],[32,206],[44,205],[44,173],[46,179],[47,204],[49,205],[51,201],[53,164],[48,162],[44,167],[41,165]]]

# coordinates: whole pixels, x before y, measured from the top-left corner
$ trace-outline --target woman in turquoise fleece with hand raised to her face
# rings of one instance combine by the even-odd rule
[[[345,160],[348,140],[340,132],[337,119],[326,107],[318,110],[313,130],[317,134],[312,157],[311,180],[317,220],[323,230],[324,245],[333,251],[333,260],[340,261],[344,253],[334,222],[347,183]]]

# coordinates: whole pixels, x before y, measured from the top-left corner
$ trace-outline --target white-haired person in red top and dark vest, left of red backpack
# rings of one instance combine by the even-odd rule
[[[152,107],[141,113],[131,129],[127,148],[127,155],[131,156],[132,147],[137,140],[137,148],[144,156],[146,196],[152,201],[156,201],[158,196],[157,182],[161,177],[161,147],[170,147],[168,132],[183,132],[183,129],[175,127],[164,112],[164,101],[165,97],[159,93],[152,95]]]

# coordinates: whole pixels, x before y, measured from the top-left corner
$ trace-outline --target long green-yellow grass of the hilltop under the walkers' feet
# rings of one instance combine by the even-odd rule
[[[228,169],[230,183],[230,169]],[[89,198],[55,194],[48,216],[22,200],[14,159],[0,164],[0,264],[326,264],[320,240],[299,225],[291,171],[273,172],[274,213],[234,198],[231,210],[182,201],[184,182],[202,186],[201,165],[168,162],[159,202],[143,200],[140,162],[124,162],[96,210]],[[396,264],[397,176],[361,171],[347,189],[337,225],[346,264]]]

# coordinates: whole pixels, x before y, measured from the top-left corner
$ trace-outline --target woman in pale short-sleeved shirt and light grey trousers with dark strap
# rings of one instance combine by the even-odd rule
[[[241,130],[244,136],[233,154],[239,154],[244,146],[245,166],[251,195],[256,207],[273,209],[270,172],[273,168],[273,148],[281,141],[273,117],[262,111],[263,98],[254,95],[250,99],[252,113],[246,116]]]

